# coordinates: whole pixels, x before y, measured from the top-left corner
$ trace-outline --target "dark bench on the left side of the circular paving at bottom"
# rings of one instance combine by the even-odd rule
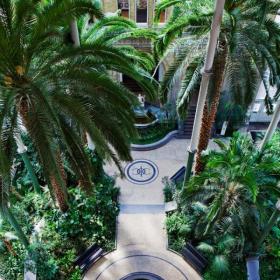
[[[91,245],[84,253],[79,255],[73,264],[79,266],[82,273],[85,273],[102,256],[104,251],[97,244]]]

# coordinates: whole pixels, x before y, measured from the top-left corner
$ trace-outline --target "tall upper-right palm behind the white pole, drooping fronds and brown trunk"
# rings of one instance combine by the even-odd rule
[[[204,2],[206,5],[202,12],[196,7],[192,8],[188,1],[182,0],[179,4],[176,3],[176,18],[167,24],[156,43],[159,56],[167,56],[174,50],[177,53],[174,63],[163,80],[162,91],[166,93],[172,85],[173,78],[178,73],[184,73],[185,78],[182,81],[177,101],[179,112],[185,110],[190,95],[196,92],[197,84],[201,79],[203,49],[207,41],[205,38],[208,37],[213,16],[209,1]],[[186,5],[189,5],[188,13],[185,12]],[[202,118],[196,172],[203,169],[201,153],[207,148],[220,93],[225,85],[238,104],[246,108],[251,104],[259,80],[262,79],[266,85],[267,109],[271,111],[272,100],[269,97],[266,77],[268,69],[271,75],[270,82],[279,83],[279,60],[276,46],[279,43],[280,28],[271,18],[271,15],[275,15],[277,11],[278,6],[274,1],[226,1],[212,69],[213,78],[208,89],[208,100]],[[170,44],[173,45],[169,47]]]

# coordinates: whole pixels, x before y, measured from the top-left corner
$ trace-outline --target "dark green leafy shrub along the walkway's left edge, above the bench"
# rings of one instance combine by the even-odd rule
[[[71,208],[61,214],[53,209],[46,220],[51,229],[77,249],[91,240],[110,247],[107,240],[114,237],[114,222],[118,214],[116,197],[118,190],[110,186],[97,186],[95,196],[88,197],[78,188],[70,190]],[[114,198],[114,200],[112,200]],[[54,220],[55,219],[55,220]],[[107,248],[106,248],[107,249]]]

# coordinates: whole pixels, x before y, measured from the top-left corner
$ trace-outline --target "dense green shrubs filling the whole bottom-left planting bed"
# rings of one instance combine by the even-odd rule
[[[93,243],[104,250],[114,248],[118,194],[110,177],[104,177],[103,184],[97,184],[90,197],[80,188],[70,188],[71,207],[64,214],[54,207],[48,192],[41,196],[28,192],[21,201],[13,198],[13,212],[24,232],[31,236],[35,228],[38,231],[30,257],[37,263],[39,280],[80,280],[80,271],[72,265],[80,252]],[[6,223],[1,228],[12,231]],[[2,243],[0,275],[17,280],[22,278],[26,251],[18,240],[11,241],[11,245],[16,255]]]

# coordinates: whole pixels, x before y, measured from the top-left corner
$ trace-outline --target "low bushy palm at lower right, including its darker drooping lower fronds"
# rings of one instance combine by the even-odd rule
[[[263,202],[280,193],[279,159],[260,153],[252,141],[238,134],[229,146],[219,140],[216,143],[221,151],[207,156],[205,170],[189,181],[183,199],[207,206],[207,213],[197,223],[200,239],[209,238],[229,222],[234,230],[228,233],[242,241],[239,251],[250,263],[250,257],[260,249],[259,240],[269,217]]]

